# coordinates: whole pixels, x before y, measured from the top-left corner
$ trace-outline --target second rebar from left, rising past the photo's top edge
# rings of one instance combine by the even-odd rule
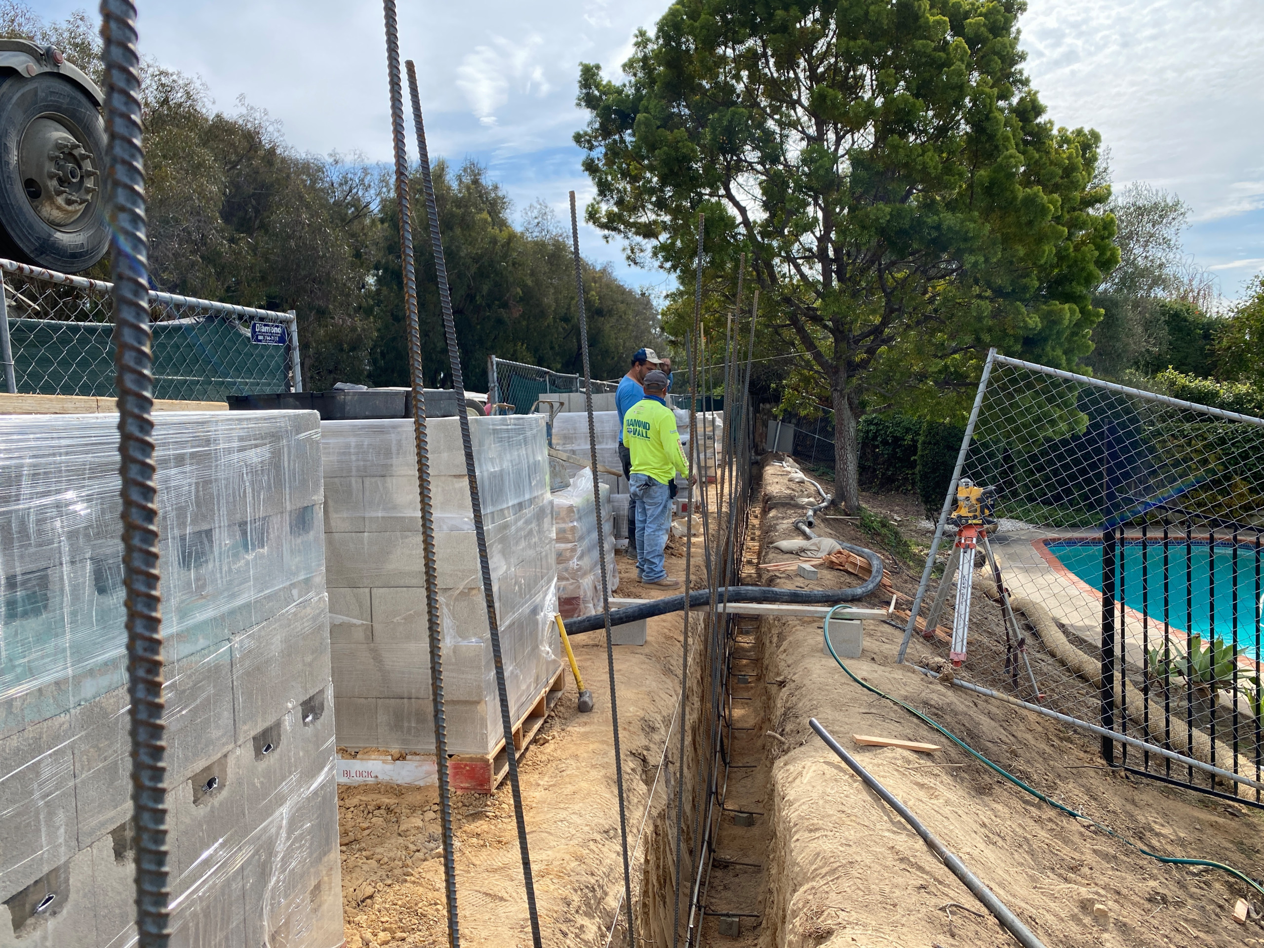
[[[399,77],[399,34],[394,0],[383,0],[387,38],[387,80],[391,87],[391,140],[394,158],[396,201],[399,207],[399,257],[403,270],[404,321],[408,332],[408,379],[412,388],[413,446],[417,454],[417,497],[421,516],[422,575],[426,580],[426,642],[430,657],[431,714],[439,777],[439,822],[444,851],[444,900],[447,942],[460,944],[456,913],[456,856],[453,843],[451,787],[447,771],[447,722],[444,710],[442,626],[439,616],[439,568],[435,560],[435,516],[430,493],[430,446],[426,432],[426,389],[421,356],[421,316],[417,306],[417,268],[412,245],[408,193],[408,145],[403,124]]]

